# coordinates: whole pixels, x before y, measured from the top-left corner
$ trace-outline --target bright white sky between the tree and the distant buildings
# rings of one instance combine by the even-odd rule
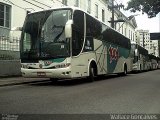
[[[115,0],[118,3],[123,3],[127,6],[127,2],[129,0]],[[131,13],[129,11],[124,11],[125,15],[137,15],[135,16],[137,22],[137,29],[149,30],[150,33],[152,32],[160,32],[160,13],[154,18],[148,18],[147,14],[143,14],[141,12]]]

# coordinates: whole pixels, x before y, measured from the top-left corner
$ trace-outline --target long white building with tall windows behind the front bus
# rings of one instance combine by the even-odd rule
[[[0,50],[19,51],[20,32],[13,31],[15,27],[22,27],[25,16],[29,12],[62,6],[79,7],[98,20],[111,25],[112,13],[109,9],[112,0],[0,0]],[[115,9],[115,30],[135,41],[134,16],[126,17],[119,9]]]

